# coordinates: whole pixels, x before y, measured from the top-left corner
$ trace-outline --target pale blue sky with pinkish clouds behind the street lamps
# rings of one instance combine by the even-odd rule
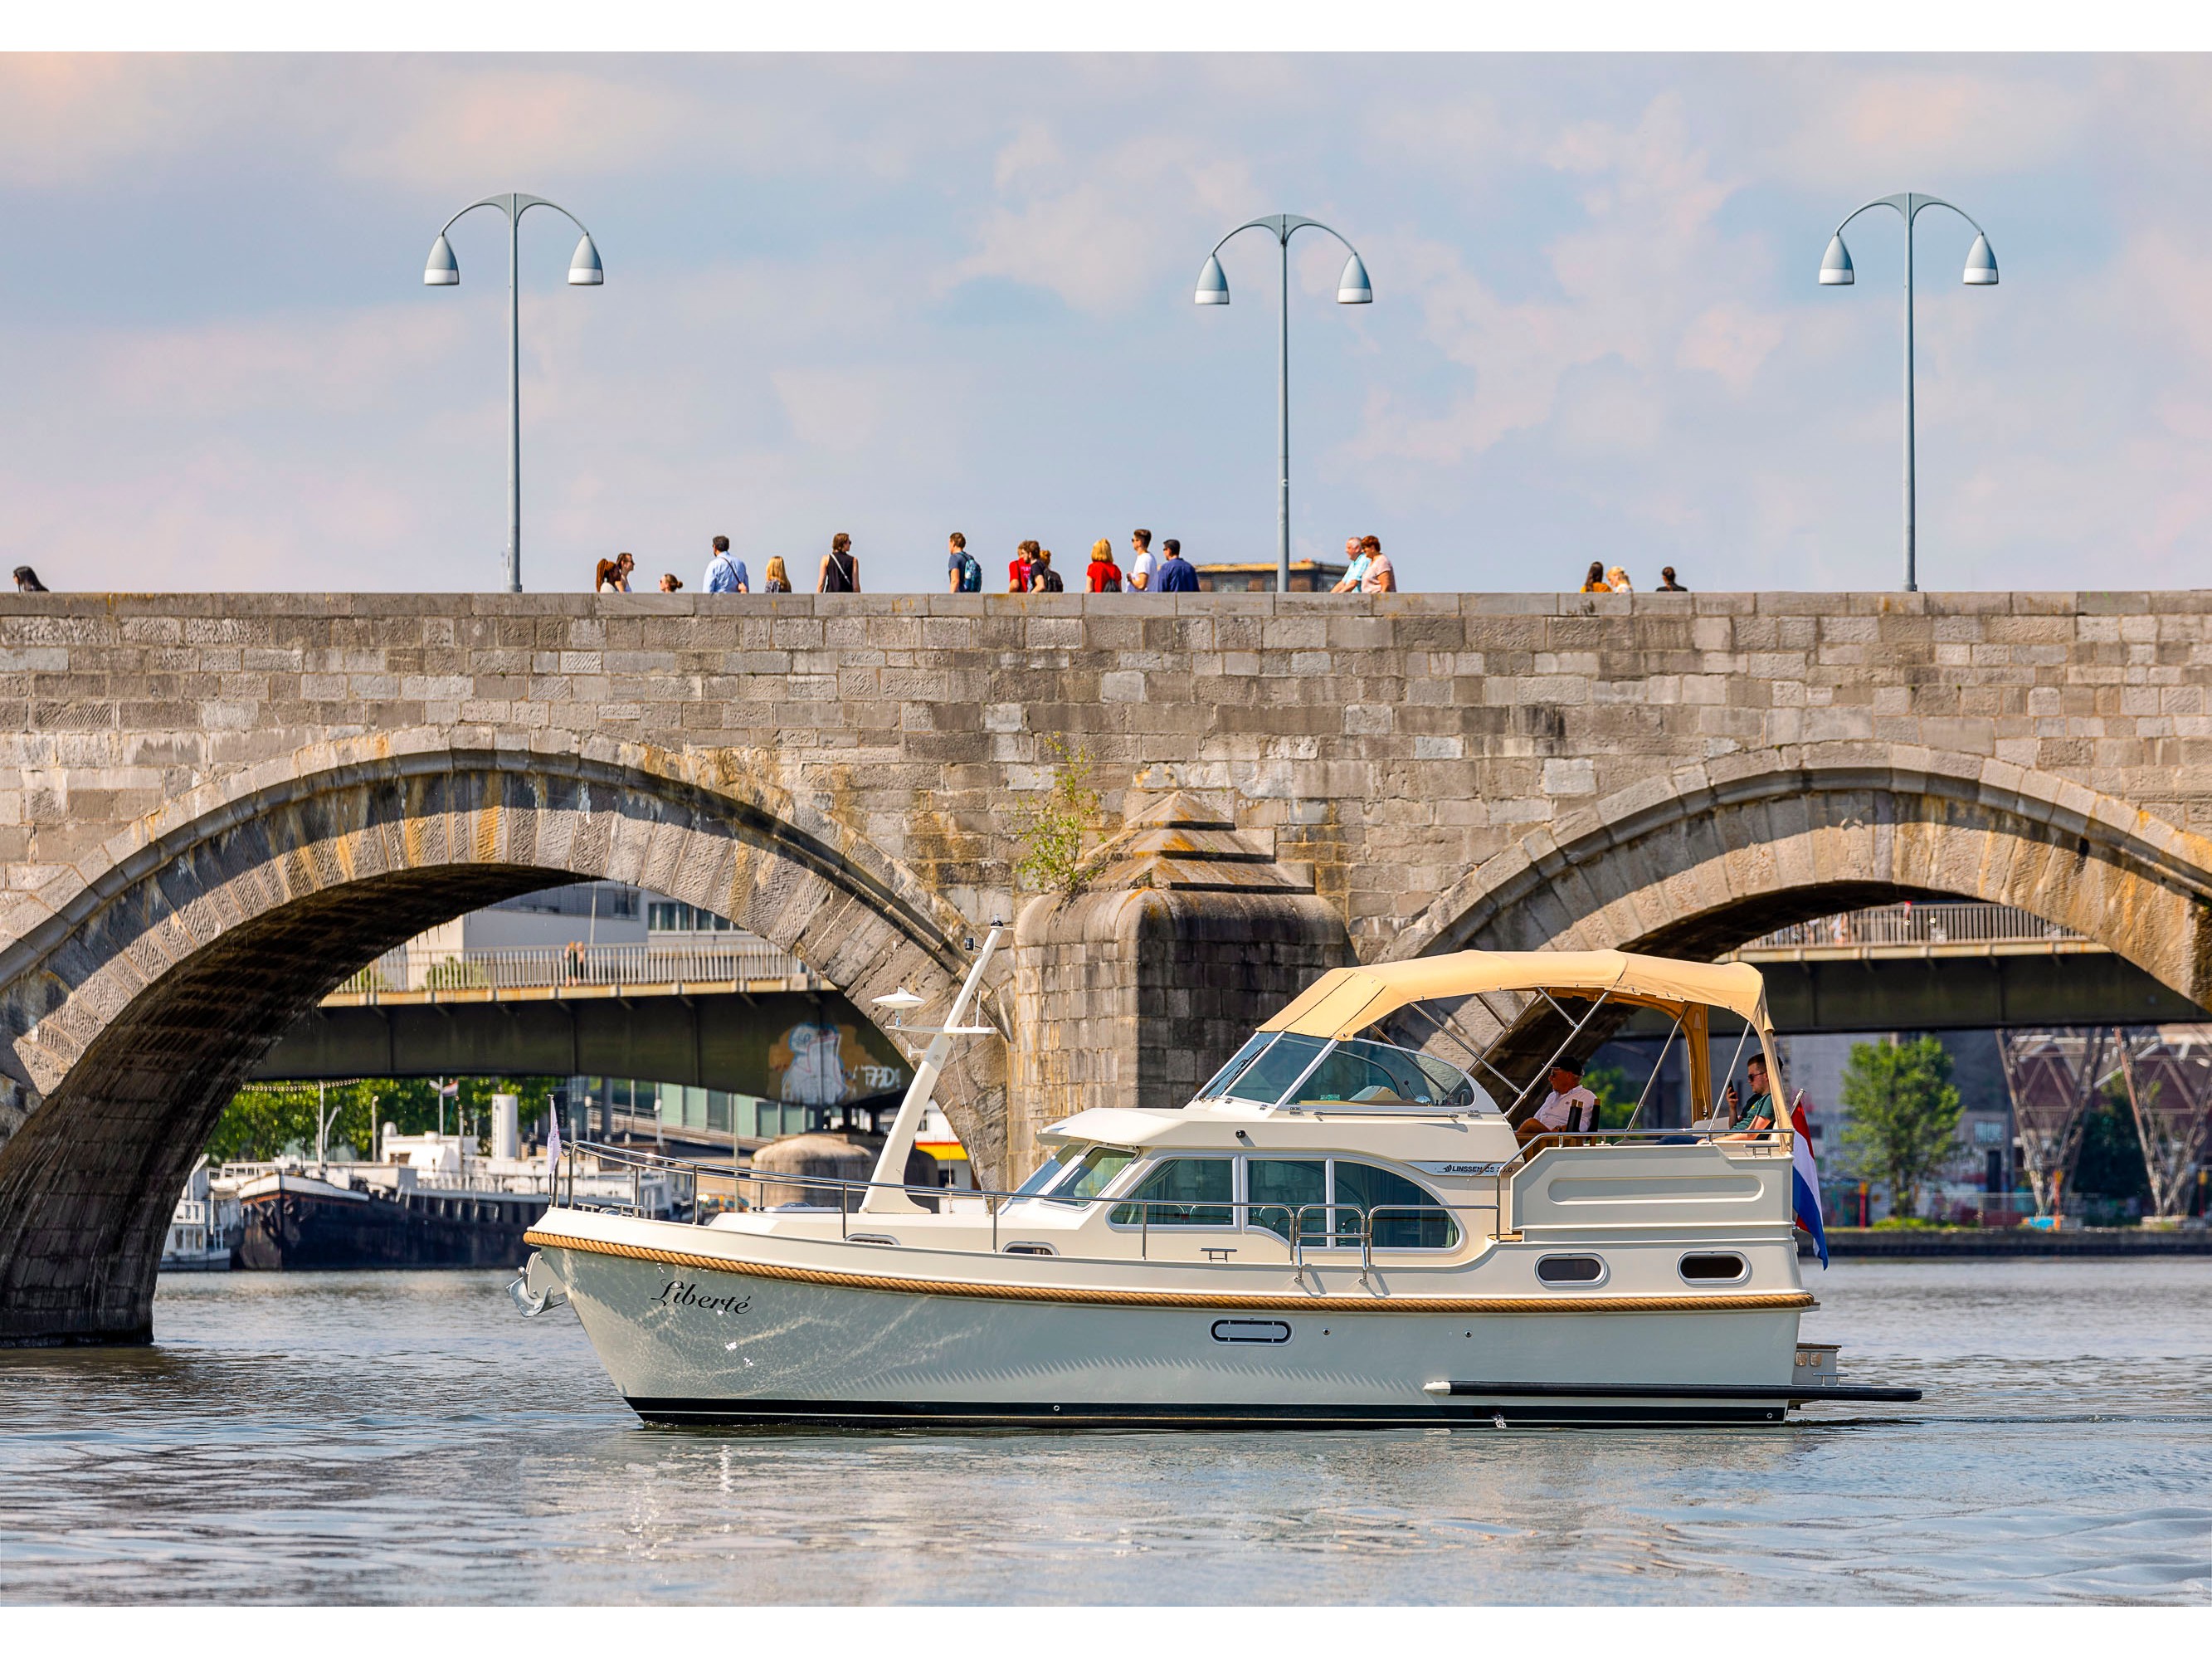
[[[495,591],[522,223],[522,580],[945,586],[964,531],[1407,588],[2201,586],[2212,60],[2188,55],[0,58],[0,566],[53,588]]]

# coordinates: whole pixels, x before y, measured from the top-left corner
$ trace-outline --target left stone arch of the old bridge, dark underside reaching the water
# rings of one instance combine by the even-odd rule
[[[460,911],[630,880],[863,1009],[900,982],[947,993],[969,922],[768,776],[730,752],[378,734],[179,799],[49,885],[0,951],[0,1343],[144,1338],[175,1192],[223,1102],[347,973]],[[993,1177],[1004,1048],[956,1062],[940,1099]]]

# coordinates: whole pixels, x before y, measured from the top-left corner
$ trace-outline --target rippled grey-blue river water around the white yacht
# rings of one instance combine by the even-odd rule
[[[1785,1427],[646,1429],[509,1274],[161,1281],[0,1354],[4,1601],[2212,1599],[2212,1259],[1807,1267]]]

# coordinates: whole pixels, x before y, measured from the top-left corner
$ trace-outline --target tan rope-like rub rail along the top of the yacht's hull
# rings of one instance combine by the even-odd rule
[[[834,1290],[887,1290],[905,1296],[967,1296],[1002,1303],[1079,1303],[1091,1307],[1221,1307],[1252,1312],[1321,1312],[1321,1314],[1770,1314],[1807,1310],[1818,1303],[1803,1290],[1759,1290],[1736,1296],[1283,1296],[1250,1292],[1183,1292],[1183,1290],[1082,1290],[1075,1285],[978,1285],[960,1279],[905,1279],[898,1274],[852,1274],[830,1267],[790,1267],[770,1261],[730,1261],[690,1250],[655,1250],[608,1239],[575,1239],[531,1228],[522,1243],[553,1250],[582,1250],[628,1261],[659,1261],[670,1267],[745,1274],[748,1279],[783,1279],[799,1285]]]

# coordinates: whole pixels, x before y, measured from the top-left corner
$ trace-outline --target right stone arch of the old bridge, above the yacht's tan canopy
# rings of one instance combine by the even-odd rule
[[[1385,949],[1712,958],[1920,896],[2015,905],[2212,1004],[2212,841],[1982,757],[1763,750],[1652,776],[1469,872]]]

